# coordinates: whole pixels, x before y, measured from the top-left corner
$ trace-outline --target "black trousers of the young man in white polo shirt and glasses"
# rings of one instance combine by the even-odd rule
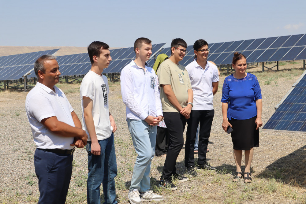
[[[185,166],[194,166],[193,149],[196,141],[196,130],[200,122],[198,165],[206,162],[208,139],[211,132],[211,124],[214,119],[214,110],[192,110],[187,121],[187,134],[185,144]]]

